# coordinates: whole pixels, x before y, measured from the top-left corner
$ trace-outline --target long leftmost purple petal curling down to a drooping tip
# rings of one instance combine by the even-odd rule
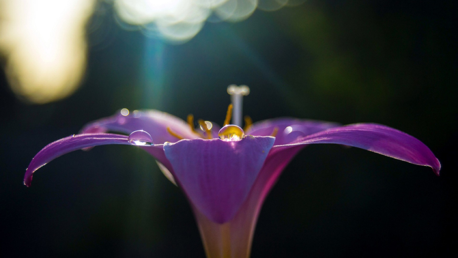
[[[30,162],[26,174],[24,176],[24,185],[30,186],[32,183],[33,173],[38,169],[46,165],[48,162],[52,161],[56,157],[60,157],[68,152],[80,150],[82,148],[106,145],[106,144],[125,144],[132,145],[128,142],[128,136],[126,135],[115,135],[115,134],[82,134],[82,135],[70,135],[68,137],[56,140],[45,146],[41,151],[33,157],[32,162]],[[169,164],[168,161],[160,152],[163,151],[163,145],[154,145],[149,147],[153,149],[149,151],[150,153],[155,153],[158,156],[158,161],[161,163]]]

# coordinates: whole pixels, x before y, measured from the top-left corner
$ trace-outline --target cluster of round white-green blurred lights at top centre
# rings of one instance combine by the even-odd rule
[[[209,17],[212,22],[239,22],[256,8],[276,11],[286,5],[289,0],[114,0],[121,26],[137,25],[144,34],[173,43],[193,38]]]

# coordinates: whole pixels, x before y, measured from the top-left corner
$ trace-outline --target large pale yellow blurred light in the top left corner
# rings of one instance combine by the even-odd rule
[[[85,24],[94,2],[0,1],[0,51],[16,95],[47,103],[76,90],[86,67]]]

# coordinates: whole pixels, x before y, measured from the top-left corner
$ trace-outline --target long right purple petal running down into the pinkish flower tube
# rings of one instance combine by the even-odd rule
[[[245,202],[230,221],[226,224],[215,223],[194,208],[208,257],[222,256],[224,247],[228,245],[230,257],[247,258],[250,256],[251,241],[262,203],[289,161],[305,145],[311,143],[338,143],[364,147],[384,155],[389,154],[390,157],[402,157],[401,159],[406,161],[414,159],[412,152],[417,150],[420,153],[413,154],[413,156],[417,157],[417,160],[420,156],[428,161],[416,164],[427,163],[425,165],[433,167],[436,171],[440,169],[437,159],[419,140],[396,129],[378,124],[355,124],[328,129],[307,136],[293,144],[273,146]],[[395,151],[393,152],[390,148],[398,148],[399,151],[394,153]],[[225,235],[229,235],[229,240],[227,236],[224,237]]]

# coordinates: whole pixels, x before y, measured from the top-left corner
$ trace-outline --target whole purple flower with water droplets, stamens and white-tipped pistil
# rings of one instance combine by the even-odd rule
[[[232,88],[231,88],[232,87]],[[337,123],[276,118],[241,123],[241,96],[246,86],[228,88],[225,126],[193,117],[187,123],[155,110],[120,113],[89,123],[81,134],[45,146],[27,168],[24,184],[49,161],[70,151],[105,144],[136,145],[156,158],[159,168],[186,194],[196,216],[207,257],[246,258],[262,203],[285,166],[306,145],[334,143],[359,147],[409,163],[429,166],[439,174],[441,165],[420,140],[374,123],[340,126]],[[231,114],[234,113],[230,125]],[[117,131],[127,135],[107,134]],[[246,136],[245,136],[246,135]]]

